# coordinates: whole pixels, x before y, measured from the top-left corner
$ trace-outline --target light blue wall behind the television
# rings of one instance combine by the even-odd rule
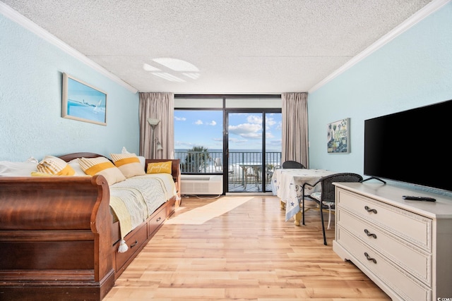
[[[452,99],[449,3],[309,94],[311,168],[364,172],[364,120]],[[326,125],[350,118],[351,153],[328,154]],[[444,141],[428,142],[444,147]],[[428,164],[422,152],[414,164]]]

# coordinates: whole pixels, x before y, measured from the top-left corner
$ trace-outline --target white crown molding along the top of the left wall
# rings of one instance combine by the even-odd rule
[[[121,78],[118,78],[116,75],[113,75],[107,69],[103,68],[99,64],[88,59],[88,57],[81,54],[81,52],[77,51],[76,49],[73,49],[68,44],[61,41],[61,39],[58,39],[51,33],[47,32],[47,30],[44,30],[42,27],[40,27],[36,23],[32,22],[32,20],[26,18],[25,16],[20,15],[20,13],[13,10],[13,8],[11,8],[10,6],[7,6],[3,2],[0,2],[0,13],[3,14],[4,16],[6,16],[6,18],[9,18],[9,19],[13,20],[14,22],[18,23],[19,25],[25,27],[25,29],[30,30],[30,32],[34,33],[38,37],[41,37],[42,39],[46,40],[50,44],[58,47],[62,51],[66,52],[67,54],[78,59],[78,61],[85,63],[90,68],[93,68],[100,74],[105,75],[110,80],[117,82],[119,85],[125,87],[130,92],[132,92],[132,93],[138,92],[138,90],[136,90],[136,88],[134,88],[131,85],[129,85],[128,83],[124,82],[124,80],[121,80]]]

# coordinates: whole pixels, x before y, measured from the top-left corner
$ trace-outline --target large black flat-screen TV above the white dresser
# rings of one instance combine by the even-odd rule
[[[452,191],[452,100],[364,121],[364,175]]]

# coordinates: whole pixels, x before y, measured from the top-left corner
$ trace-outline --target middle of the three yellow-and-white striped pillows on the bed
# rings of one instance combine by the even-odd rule
[[[97,158],[79,158],[78,164],[82,170],[90,176],[102,175],[107,180],[108,185],[126,180],[119,168],[114,166],[109,159],[99,156]]]

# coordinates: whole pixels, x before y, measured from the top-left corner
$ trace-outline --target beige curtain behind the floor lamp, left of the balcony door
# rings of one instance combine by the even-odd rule
[[[174,159],[174,94],[140,93],[140,154],[149,159]],[[152,128],[148,118],[157,118],[155,127],[154,158],[150,158]],[[162,150],[156,150],[157,140]]]

